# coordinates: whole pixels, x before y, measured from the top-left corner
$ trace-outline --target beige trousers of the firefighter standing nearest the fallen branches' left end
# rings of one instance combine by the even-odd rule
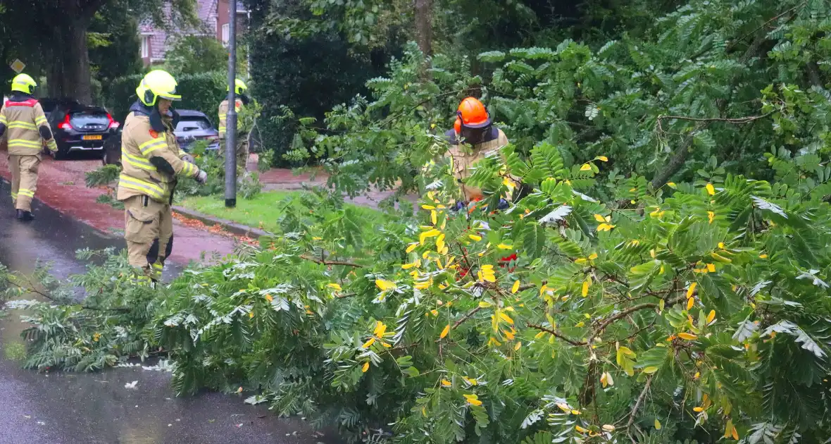
[[[173,246],[173,214],[170,205],[145,195],[124,201],[124,239],[136,273],[161,279],[165,259]]]

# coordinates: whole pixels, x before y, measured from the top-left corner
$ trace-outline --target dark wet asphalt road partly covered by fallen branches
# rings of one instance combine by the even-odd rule
[[[76,249],[122,247],[85,224],[36,202],[36,220],[13,219],[9,185],[0,185],[0,262],[31,272],[37,260],[52,263],[60,277],[82,272]],[[181,266],[169,264],[165,279]],[[42,374],[5,358],[8,344],[22,343],[16,313],[0,320],[0,444],[334,444],[300,419],[279,419],[242,396],[204,393],[177,398],[170,374],[141,368],[98,373]],[[135,389],[125,383],[138,381]]]

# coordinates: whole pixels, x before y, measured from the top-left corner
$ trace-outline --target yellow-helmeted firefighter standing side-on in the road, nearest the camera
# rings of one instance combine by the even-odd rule
[[[173,249],[170,205],[178,176],[199,183],[208,175],[179,149],[173,130],[179,114],[170,105],[181,100],[169,73],[149,72],[135,88],[139,100],[130,106],[121,136],[121,175],[118,200],[124,202],[127,254],[138,279],[161,278]]]

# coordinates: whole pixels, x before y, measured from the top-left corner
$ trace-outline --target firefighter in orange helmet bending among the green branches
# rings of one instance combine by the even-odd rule
[[[508,145],[505,133],[494,126],[488,110],[475,97],[467,97],[461,101],[456,110],[456,121],[453,129],[445,133],[450,141],[450,149],[446,156],[450,157],[450,168],[459,182],[463,199],[457,203],[457,209],[464,208],[470,202],[484,198],[482,190],[465,184],[470,176],[469,169],[475,162],[486,155]],[[499,209],[504,210],[508,203],[500,200]]]

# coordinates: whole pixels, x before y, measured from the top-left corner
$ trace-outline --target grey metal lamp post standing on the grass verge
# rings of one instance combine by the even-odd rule
[[[225,123],[225,207],[237,206],[237,0],[229,0],[228,116]]]

